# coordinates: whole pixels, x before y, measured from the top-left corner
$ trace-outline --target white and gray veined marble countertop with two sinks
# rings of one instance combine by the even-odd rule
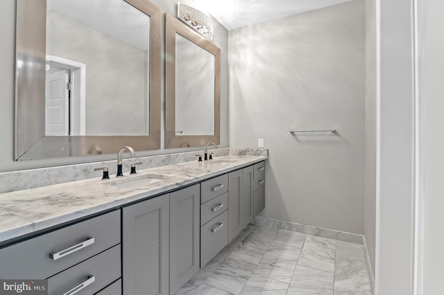
[[[180,189],[266,160],[262,155],[224,155],[209,162],[182,162],[137,171],[110,180],[90,178],[0,194],[0,243],[58,224],[97,214],[150,196]],[[225,160],[225,161],[224,161]],[[116,185],[144,176],[164,178],[156,183],[125,188]],[[136,185],[137,184],[137,185]]]

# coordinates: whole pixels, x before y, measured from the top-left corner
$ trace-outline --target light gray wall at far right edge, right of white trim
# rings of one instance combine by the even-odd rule
[[[444,294],[444,2],[425,0],[425,231],[424,292]]]

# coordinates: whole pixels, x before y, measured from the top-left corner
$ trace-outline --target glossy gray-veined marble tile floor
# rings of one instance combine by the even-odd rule
[[[364,246],[249,224],[176,295],[372,295]]]

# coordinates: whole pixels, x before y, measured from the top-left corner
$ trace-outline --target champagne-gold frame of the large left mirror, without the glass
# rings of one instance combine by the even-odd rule
[[[45,136],[46,0],[17,0],[15,71],[15,160],[160,149],[162,10],[149,0],[122,0],[151,19],[149,53],[149,134],[142,136]],[[18,60],[25,65],[19,66]],[[20,113],[20,117],[19,117]],[[122,124],[130,118],[121,119]],[[25,134],[28,139],[25,139]],[[35,152],[26,155],[33,146]],[[68,152],[67,152],[68,150]]]

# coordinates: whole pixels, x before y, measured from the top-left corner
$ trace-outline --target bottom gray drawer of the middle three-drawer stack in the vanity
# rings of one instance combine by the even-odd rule
[[[228,244],[228,210],[200,227],[200,267]]]

